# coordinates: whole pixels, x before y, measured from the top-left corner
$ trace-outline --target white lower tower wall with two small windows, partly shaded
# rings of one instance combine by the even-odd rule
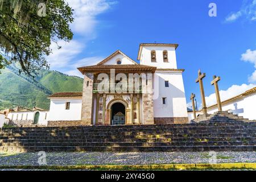
[[[165,86],[169,82],[169,87]],[[166,104],[163,104],[166,97]],[[154,74],[154,117],[188,117],[182,73],[156,71]]]

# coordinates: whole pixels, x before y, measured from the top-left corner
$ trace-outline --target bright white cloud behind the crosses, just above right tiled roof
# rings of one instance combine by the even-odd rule
[[[238,96],[239,94],[254,88],[255,84],[242,84],[242,85],[232,85],[228,90],[220,90],[221,101],[228,100],[234,96]],[[207,106],[211,106],[217,103],[215,93],[210,94],[210,96],[205,97],[205,101],[207,102]]]

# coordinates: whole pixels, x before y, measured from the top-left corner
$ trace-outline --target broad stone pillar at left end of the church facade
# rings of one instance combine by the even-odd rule
[[[87,83],[88,86],[87,86]],[[82,112],[81,124],[92,125],[93,111],[93,73],[84,74],[84,85],[82,89]]]

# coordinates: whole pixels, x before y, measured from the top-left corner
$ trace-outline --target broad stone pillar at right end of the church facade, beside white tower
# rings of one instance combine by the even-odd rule
[[[146,75],[142,75],[142,80],[146,79]],[[142,81],[142,112],[144,125],[154,124],[154,108],[153,108],[153,92],[152,92],[152,74],[147,75],[146,81]]]

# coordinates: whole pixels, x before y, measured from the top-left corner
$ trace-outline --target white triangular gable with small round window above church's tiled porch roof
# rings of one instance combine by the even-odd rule
[[[120,50],[117,50],[114,53],[112,53],[112,55],[106,57],[106,59],[102,60],[97,65],[117,64],[117,60],[121,60],[121,64],[138,64],[129,56],[125,55],[125,53],[123,53]]]

